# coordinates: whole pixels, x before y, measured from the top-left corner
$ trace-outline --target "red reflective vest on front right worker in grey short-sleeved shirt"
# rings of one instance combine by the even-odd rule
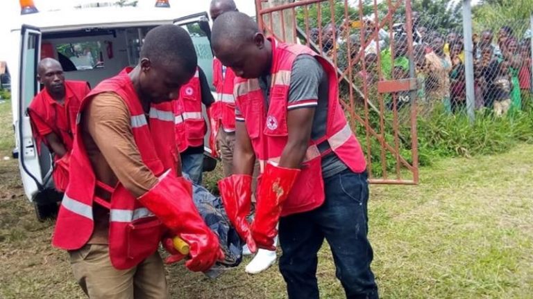
[[[257,79],[237,78],[235,94],[237,106],[245,120],[246,130],[251,138],[255,156],[260,161],[261,172],[264,163],[279,163],[288,140],[287,104],[292,64],[298,55],[308,54],[316,57],[329,78],[328,120],[325,136],[310,141],[289,197],[282,210],[282,216],[305,212],[318,208],[324,201],[321,156],[335,152],[353,172],[363,172],[366,161],[359,141],[346,121],[339,103],[337,74],[333,66],[310,48],[297,44],[282,44],[270,39],[272,43],[272,66],[270,105],[265,107],[264,94]],[[318,145],[329,143],[325,152]]]

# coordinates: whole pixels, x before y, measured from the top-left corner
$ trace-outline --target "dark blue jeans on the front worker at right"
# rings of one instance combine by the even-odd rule
[[[373,251],[366,237],[369,199],[366,172],[344,170],[325,178],[324,187],[325,201],[321,207],[280,219],[283,255],[279,266],[289,298],[319,298],[316,253],[325,238],[346,298],[377,299],[378,286],[370,269]]]

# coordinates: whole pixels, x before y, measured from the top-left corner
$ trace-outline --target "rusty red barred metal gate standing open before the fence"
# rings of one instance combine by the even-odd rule
[[[305,44],[337,66],[341,105],[371,183],[418,183],[415,63],[421,52],[410,0],[256,0],[256,7],[267,35]]]

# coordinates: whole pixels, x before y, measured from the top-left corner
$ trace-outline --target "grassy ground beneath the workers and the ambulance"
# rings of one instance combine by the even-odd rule
[[[6,105],[6,104],[2,104]],[[12,148],[10,107],[0,105],[0,150]],[[214,187],[217,174],[206,176]],[[372,185],[373,270],[382,298],[532,298],[533,145],[493,156],[441,159],[417,186]],[[23,195],[17,161],[0,161],[0,298],[85,298],[67,253],[51,247]],[[172,298],[287,298],[277,265],[244,263],[217,280],[167,267]],[[344,298],[327,244],[319,253],[321,298]]]

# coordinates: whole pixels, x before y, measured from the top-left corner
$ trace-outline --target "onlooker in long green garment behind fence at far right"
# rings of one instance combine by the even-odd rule
[[[518,53],[518,42],[514,37],[505,39],[505,46],[502,48],[504,61],[509,64],[509,75],[511,75],[511,108],[522,109],[522,96],[520,94],[520,82],[518,72],[522,67],[522,57]]]

